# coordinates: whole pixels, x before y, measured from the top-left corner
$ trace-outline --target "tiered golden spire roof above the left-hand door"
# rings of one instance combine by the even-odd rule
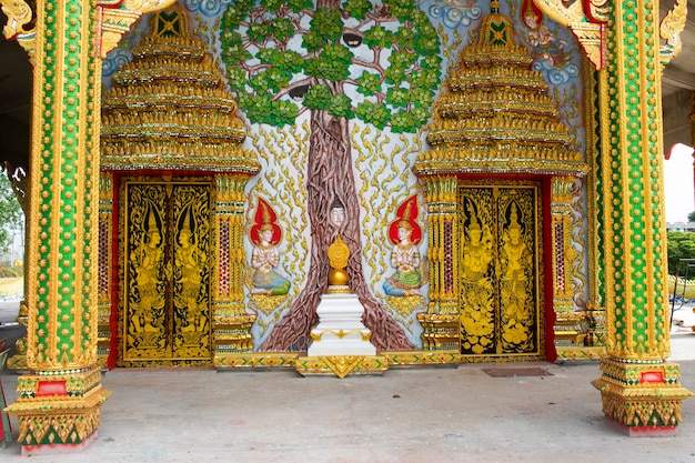
[[[154,14],[132,53],[102,104],[102,169],[259,171],[241,148],[236,102],[181,7]]]

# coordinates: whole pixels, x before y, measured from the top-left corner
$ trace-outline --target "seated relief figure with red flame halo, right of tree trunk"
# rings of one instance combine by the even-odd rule
[[[417,243],[422,239],[422,230],[417,217],[417,197],[409,198],[396,211],[397,219],[389,228],[389,238],[393,243],[391,265],[395,273],[386,279],[386,295],[420,295],[422,274],[420,272],[420,251]]]

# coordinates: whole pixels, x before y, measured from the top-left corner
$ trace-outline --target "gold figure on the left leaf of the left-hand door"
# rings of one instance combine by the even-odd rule
[[[131,252],[130,261],[134,269],[137,296],[131,302],[133,308],[130,326],[134,332],[160,331],[158,320],[164,310],[164,251],[162,233],[154,212],[148,213],[147,229],[141,242]]]

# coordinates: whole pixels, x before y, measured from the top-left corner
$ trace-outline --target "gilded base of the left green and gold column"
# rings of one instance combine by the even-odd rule
[[[4,410],[18,419],[22,454],[80,451],[95,437],[109,394],[98,366],[23,374]]]

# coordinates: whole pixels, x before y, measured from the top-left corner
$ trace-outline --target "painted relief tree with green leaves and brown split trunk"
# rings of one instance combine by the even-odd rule
[[[349,120],[393,132],[416,132],[429,119],[441,78],[440,39],[413,0],[240,0],[221,27],[222,59],[240,108],[251,122],[294,123],[309,111],[306,171],[312,233],[305,286],[261,350],[304,350],[328,288],[329,245],[350,248],[350,286],[381,350],[412,343],[371,294],[362,272],[360,203],[352,170]],[[349,89],[350,88],[350,89]],[[351,99],[345,92],[357,95]],[[345,221],[334,225],[335,203]]]

